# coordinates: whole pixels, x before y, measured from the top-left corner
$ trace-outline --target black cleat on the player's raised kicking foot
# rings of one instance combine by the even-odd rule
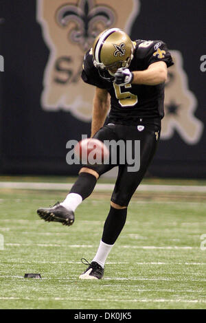
[[[73,211],[67,210],[59,202],[54,204],[52,208],[40,208],[37,210],[37,214],[45,221],[60,222],[62,225],[72,225],[74,222]]]

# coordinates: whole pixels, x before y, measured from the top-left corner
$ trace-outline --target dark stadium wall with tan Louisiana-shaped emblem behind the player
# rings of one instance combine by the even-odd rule
[[[0,172],[77,174],[79,166],[66,163],[66,143],[90,135],[93,87],[80,79],[84,52],[93,43],[92,34],[84,36],[90,22],[93,32],[121,27],[132,39],[168,44],[175,65],[169,70],[161,141],[149,173],[205,178],[204,2],[1,1]],[[99,5],[104,19],[89,18]],[[80,37],[74,34],[78,7],[84,12]],[[71,10],[77,17],[72,21]]]

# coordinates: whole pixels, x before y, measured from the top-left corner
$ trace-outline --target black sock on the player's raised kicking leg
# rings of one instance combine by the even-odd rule
[[[94,175],[89,174],[89,172],[80,172],[69,193],[80,194],[82,200],[86,199],[93,192],[96,183],[97,179]]]

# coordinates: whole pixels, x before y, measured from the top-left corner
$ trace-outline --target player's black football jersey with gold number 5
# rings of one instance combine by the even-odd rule
[[[163,61],[168,67],[173,65],[172,57],[163,41],[135,41],[130,71],[143,71],[152,63]],[[163,118],[164,83],[159,85],[119,86],[115,82],[101,78],[93,65],[93,55],[88,51],[84,56],[82,80],[95,87],[107,89],[111,95],[109,122],[135,124],[139,118]]]

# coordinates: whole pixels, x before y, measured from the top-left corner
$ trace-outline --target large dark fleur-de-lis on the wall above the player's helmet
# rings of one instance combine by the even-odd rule
[[[102,30],[115,23],[115,13],[106,5],[95,5],[94,0],[79,0],[77,4],[65,4],[58,8],[56,20],[61,27],[75,23],[69,32],[69,39],[85,52]]]

